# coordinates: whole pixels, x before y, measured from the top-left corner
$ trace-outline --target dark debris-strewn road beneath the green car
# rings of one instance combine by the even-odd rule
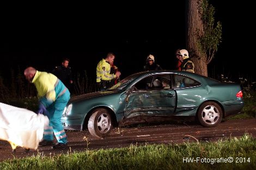
[[[105,149],[130,146],[130,144],[145,143],[182,143],[186,141],[217,141],[225,137],[240,137],[245,133],[256,137],[256,119],[224,121],[214,128],[204,128],[197,123],[148,124],[133,127],[115,128],[106,138],[96,138],[89,131],[67,131],[68,148],[54,150],[50,146],[39,147],[38,150],[25,152],[17,148],[11,152],[11,146],[6,141],[0,141],[0,161],[13,158],[23,158],[33,155],[54,155],[59,153],[80,152],[87,149]]]

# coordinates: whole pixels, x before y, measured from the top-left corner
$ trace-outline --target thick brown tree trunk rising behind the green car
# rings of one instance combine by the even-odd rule
[[[199,51],[197,46],[198,36],[204,34],[203,23],[199,14],[199,4],[202,0],[187,1],[187,42],[186,46],[194,62],[194,72],[208,76],[206,54]]]

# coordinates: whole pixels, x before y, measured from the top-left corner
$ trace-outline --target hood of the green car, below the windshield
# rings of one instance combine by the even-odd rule
[[[77,102],[77,101],[84,100],[84,99],[99,97],[99,96],[110,95],[113,93],[118,93],[118,91],[98,91],[98,92],[93,92],[93,93],[87,93],[84,95],[72,97],[69,100],[69,103]]]

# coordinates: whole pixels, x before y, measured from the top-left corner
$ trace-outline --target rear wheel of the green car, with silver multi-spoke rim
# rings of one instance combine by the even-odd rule
[[[222,109],[220,105],[215,102],[205,102],[198,109],[197,117],[203,127],[216,127],[222,119]]]

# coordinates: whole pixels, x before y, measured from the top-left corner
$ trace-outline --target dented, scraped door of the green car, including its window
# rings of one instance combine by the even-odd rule
[[[169,75],[151,75],[136,83],[127,94],[124,117],[136,116],[156,117],[172,116],[176,106],[176,93],[170,86],[162,85]],[[147,89],[145,79],[152,80],[152,86]]]

